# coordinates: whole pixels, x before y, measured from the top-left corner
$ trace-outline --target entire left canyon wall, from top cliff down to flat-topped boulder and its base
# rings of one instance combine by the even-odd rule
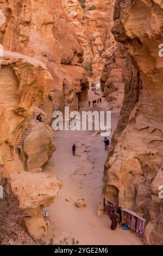
[[[0,174],[25,212],[26,229],[39,239],[47,232],[42,208],[62,186],[55,176],[41,173],[55,150],[48,124],[55,109],[76,110],[87,97],[83,49],[58,0],[1,1],[0,44]],[[41,124],[36,122],[40,112]]]

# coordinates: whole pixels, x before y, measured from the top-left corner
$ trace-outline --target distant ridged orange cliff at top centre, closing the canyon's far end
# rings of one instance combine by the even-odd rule
[[[110,10],[115,0],[86,0],[81,7],[79,0],[62,0],[65,13],[76,31],[84,50],[83,65],[92,75],[99,79],[103,69],[102,54],[109,46]],[[114,40],[112,40],[113,42]],[[111,41],[110,41],[111,43]]]

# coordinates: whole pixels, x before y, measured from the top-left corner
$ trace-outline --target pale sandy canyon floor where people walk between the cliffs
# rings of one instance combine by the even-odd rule
[[[95,97],[90,90],[91,102]],[[87,101],[81,105],[84,110],[89,109]],[[103,100],[92,109],[106,110],[108,103]],[[112,112],[112,132],[116,128],[118,115],[118,111]],[[103,137],[94,137],[90,131],[55,132],[57,151],[44,170],[56,174],[64,182],[64,186],[59,191],[58,199],[48,208],[51,225],[47,239],[55,236],[54,240],[58,243],[64,237],[72,236],[80,245],[141,245],[141,239],[136,234],[120,228],[112,231],[108,216],[96,216],[107,156],[103,141]],[[72,156],[73,143],[77,145],[79,156]],[[89,148],[86,147],[87,144],[90,145]],[[87,152],[84,153],[84,150]],[[82,198],[86,200],[87,207],[78,209],[74,202]]]

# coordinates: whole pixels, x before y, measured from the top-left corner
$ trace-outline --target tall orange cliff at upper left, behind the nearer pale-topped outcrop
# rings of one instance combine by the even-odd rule
[[[4,49],[41,60],[53,76],[51,93],[42,105],[49,121],[54,109],[67,105],[76,110],[78,100],[87,96],[88,81],[82,68],[83,49],[61,2],[9,0],[0,8]]]

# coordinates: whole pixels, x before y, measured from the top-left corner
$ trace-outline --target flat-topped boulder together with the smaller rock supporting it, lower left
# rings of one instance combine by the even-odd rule
[[[24,225],[34,239],[47,233],[42,209],[53,203],[62,184],[52,174],[22,172],[10,175],[11,190],[25,212]]]

